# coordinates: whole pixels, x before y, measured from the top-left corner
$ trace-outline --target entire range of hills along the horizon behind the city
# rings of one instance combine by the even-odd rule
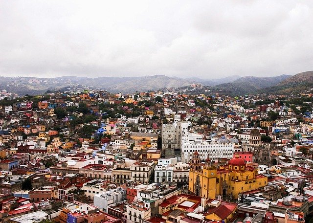
[[[243,95],[247,93],[287,93],[300,92],[313,88],[313,71],[275,77],[255,77],[238,75],[220,79],[179,78],[164,75],[144,77],[75,77],[62,76],[55,78],[36,77],[2,77],[0,89],[5,89],[19,95],[40,94],[47,90],[67,89],[105,89],[110,92],[133,93],[157,89],[171,89],[201,84],[209,89],[227,92],[228,94]]]

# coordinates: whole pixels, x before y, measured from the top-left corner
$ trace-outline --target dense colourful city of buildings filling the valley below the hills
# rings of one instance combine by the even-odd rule
[[[3,97],[1,222],[304,223],[312,102],[180,89]]]

